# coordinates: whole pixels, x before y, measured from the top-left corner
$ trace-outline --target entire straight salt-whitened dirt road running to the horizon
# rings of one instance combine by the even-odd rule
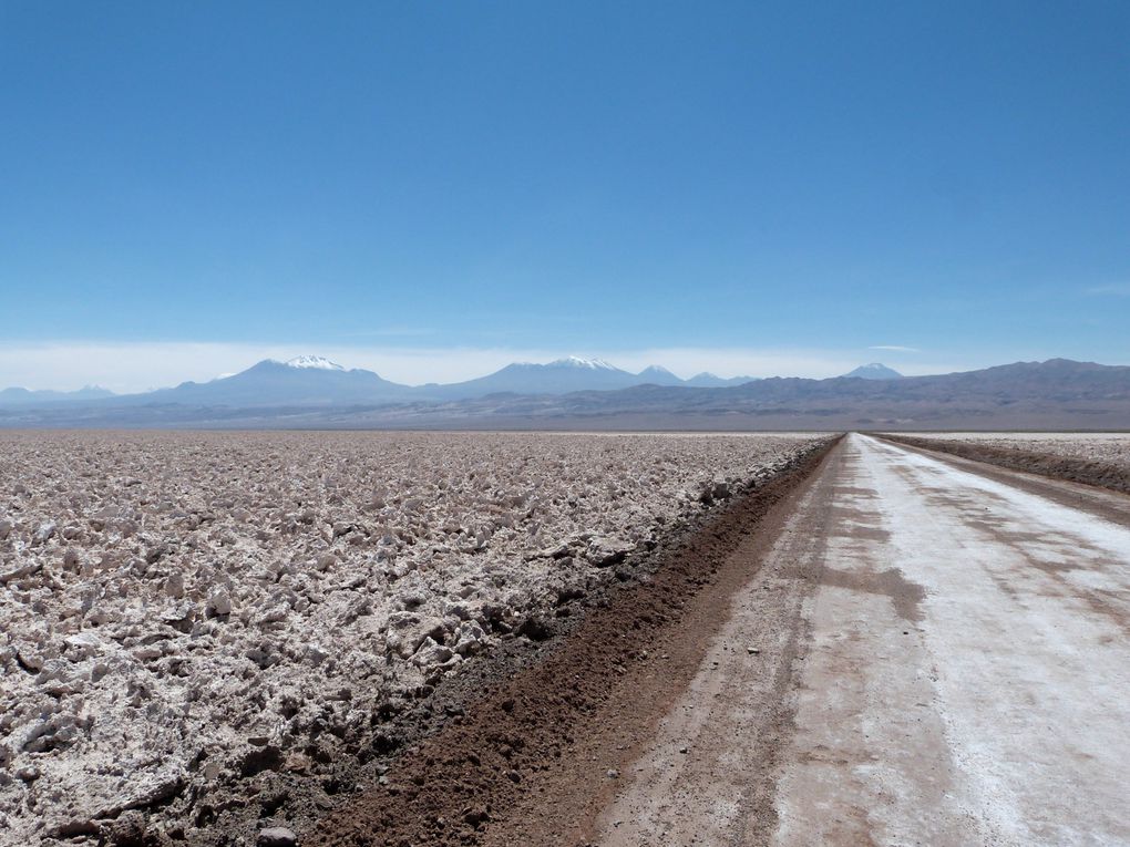
[[[594,841],[1130,844],[1124,495],[852,435],[719,614]]]

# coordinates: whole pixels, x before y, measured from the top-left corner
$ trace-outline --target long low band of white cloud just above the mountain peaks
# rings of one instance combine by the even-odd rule
[[[207,382],[262,359],[315,353],[349,368],[375,370],[386,379],[419,385],[484,376],[512,361],[549,361],[571,353],[601,358],[638,372],[662,365],[681,377],[703,370],[731,376],[826,377],[861,364],[859,350],[653,347],[636,350],[472,347],[370,347],[227,342],[56,341],[0,344],[0,388],[70,391],[96,384],[119,393]],[[905,373],[938,374],[994,363],[918,363]]]

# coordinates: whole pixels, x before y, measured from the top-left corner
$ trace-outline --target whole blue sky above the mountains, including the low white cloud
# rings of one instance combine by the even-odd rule
[[[0,0],[0,386],[1130,364],[1122,1]]]

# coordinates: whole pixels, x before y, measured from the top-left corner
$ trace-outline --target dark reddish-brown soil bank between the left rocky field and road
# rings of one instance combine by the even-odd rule
[[[729,597],[759,566],[731,553],[753,532],[772,538],[835,443],[659,555],[538,662],[484,678],[484,697],[393,759],[381,785],[342,801],[303,844],[584,844],[619,771],[693,679]]]

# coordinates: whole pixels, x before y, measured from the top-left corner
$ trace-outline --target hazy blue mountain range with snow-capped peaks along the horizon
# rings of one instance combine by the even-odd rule
[[[18,399],[0,401],[0,426],[1130,429],[1130,367],[1068,359],[938,376],[901,376],[873,364],[829,379],[733,382],[710,375],[680,379],[659,367],[631,374],[600,360],[567,358],[414,387],[302,357],[144,394],[9,390],[0,396]],[[28,394],[40,399],[27,401]]]

